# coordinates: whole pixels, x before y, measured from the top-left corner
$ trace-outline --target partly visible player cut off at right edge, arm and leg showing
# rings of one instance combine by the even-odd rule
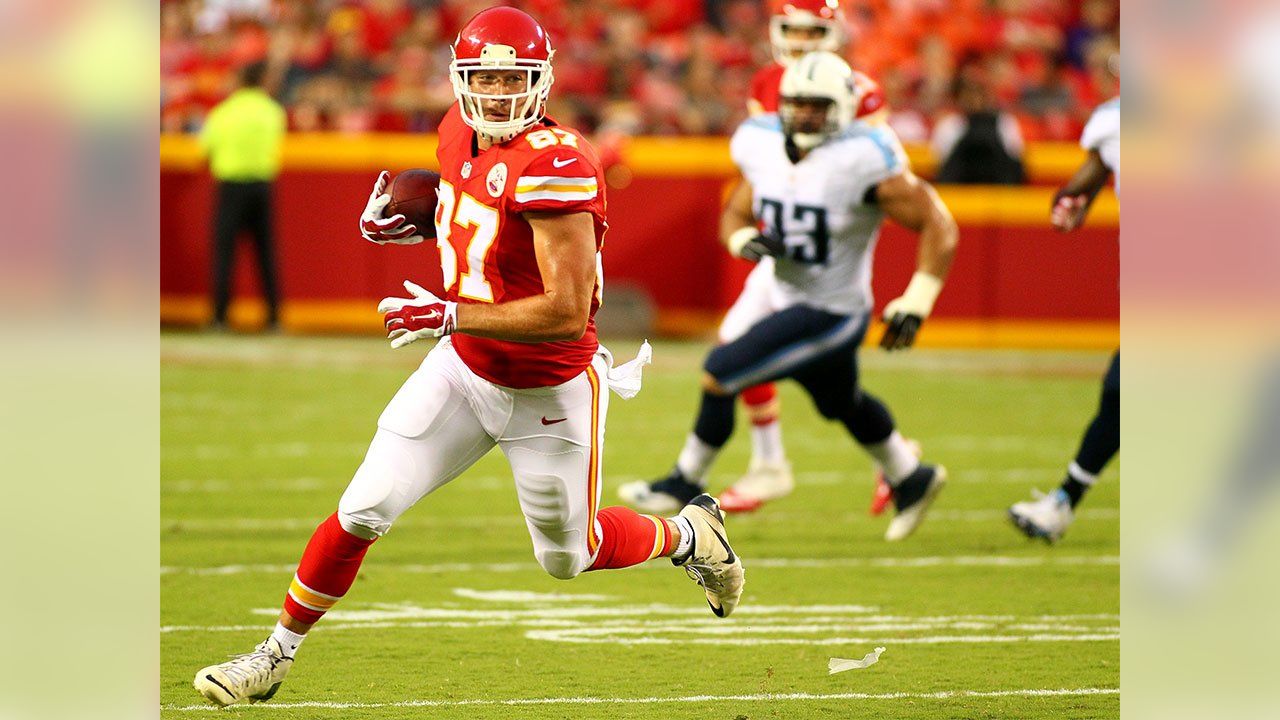
[[[1114,174],[1120,178],[1120,99],[1093,111],[1080,145],[1089,152],[1075,176],[1053,196],[1050,220],[1061,232],[1084,223],[1093,200]],[[1028,537],[1057,542],[1075,518],[1075,506],[1084,497],[1107,462],[1120,451],[1120,351],[1102,378],[1098,411],[1084,430],[1075,459],[1066,468],[1062,484],[1050,495],[1015,502],[1009,519]]]

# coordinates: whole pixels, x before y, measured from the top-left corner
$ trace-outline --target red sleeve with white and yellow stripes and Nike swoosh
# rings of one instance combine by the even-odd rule
[[[516,178],[513,206],[520,213],[594,213],[599,208],[596,164],[563,145],[539,152]]]

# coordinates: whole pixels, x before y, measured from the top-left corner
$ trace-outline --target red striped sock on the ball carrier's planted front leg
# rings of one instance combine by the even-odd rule
[[[284,596],[284,611],[303,623],[319,620],[351,589],[371,544],[374,541],[342,529],[337,512],[325,518],[302,551],[298,571]]]

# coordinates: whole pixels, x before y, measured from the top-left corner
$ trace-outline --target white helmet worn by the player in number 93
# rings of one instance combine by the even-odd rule
[[[782,73],[778,90],[782,132],[801,150],[817,147],[854,122],[859,95],[854,70],[835,53],[804,55]],[[800,118],[797,105],[813,101],[826,102],[827,113],[820,126],[809,126]]]

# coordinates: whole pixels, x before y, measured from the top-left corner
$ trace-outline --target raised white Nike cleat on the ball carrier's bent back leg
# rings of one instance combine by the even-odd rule
[[[707,605],[717,618],[728,618],[742,597],[742,560],[733,553],[724,530],[724,515],[716,498],[699,495],[680,511],[694,527],[694,547],[681,561],[672,560],[707,592]]]

